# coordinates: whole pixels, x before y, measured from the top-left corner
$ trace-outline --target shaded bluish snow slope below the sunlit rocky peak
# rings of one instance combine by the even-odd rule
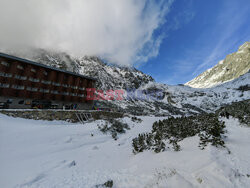
[[[164,90],[166,95],[162,103],[171,104],[185,113],[192,109],[195,110],[194,107],[206,112],[214,112],[225,104],[250,99],[250,90],[239,90],[240,86],[246,85],[250,85],[250,72],[212,88],[191,88],[189,86],[149,83],[143,89],[158,88]]]

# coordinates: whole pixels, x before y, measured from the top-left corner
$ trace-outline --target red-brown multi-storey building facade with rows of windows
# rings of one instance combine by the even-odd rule
[[[34,100],[52,101],[58,108],[91,109],[86,88],[95,79],[0,53],[0,102],[10,108],[31,108]]]

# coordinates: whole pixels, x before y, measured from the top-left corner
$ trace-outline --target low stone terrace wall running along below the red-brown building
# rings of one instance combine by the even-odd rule
[[[98,119],[114,119],[122,118],[123,113],[118,112],[104,112],[104,111],[73,111],[73,110],[1,110],[0,113],[12,116],[20,117],[25,119],[34,120],[61,120],[68,121],[72,123],[79,122],[76,113],[91,113],[94,120]]]

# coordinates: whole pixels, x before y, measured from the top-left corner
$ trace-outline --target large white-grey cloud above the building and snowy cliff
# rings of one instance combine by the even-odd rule
[[[173,0],[0,0],[0,48],[97,55],[120,65],[157,56]]]

